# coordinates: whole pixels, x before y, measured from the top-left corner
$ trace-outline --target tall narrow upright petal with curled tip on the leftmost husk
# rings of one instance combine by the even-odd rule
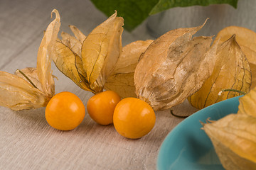
[[[57,10],[53,10],[55,19],[49,24],[46,33],[43,36],[41,45],[38,49],[37,56],[37,72],[38,79],[43,86],[43,91],[48,96],[55,94],[55,85],[51,74],[50,62],[55,55],[55,40],[57,40],[58,31],[60,30],[60,14]]]

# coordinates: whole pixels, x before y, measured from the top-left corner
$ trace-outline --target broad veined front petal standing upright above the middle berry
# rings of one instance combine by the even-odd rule
[[[103,89],[107,76],[121,55],[123,22],[123,18],[117,17],[115,12],[92,30],[82,43],[82,65],[92,88],[100,86]]]

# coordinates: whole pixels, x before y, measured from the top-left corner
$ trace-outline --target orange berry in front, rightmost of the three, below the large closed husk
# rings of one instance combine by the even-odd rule
[[[145,101],[124,98],[114,109],[114,128],[120,135],[137,139],[148,134],[156,122],[156,115]]]

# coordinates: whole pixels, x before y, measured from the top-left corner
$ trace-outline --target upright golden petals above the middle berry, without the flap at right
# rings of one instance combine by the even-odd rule
[[[53,62],[81,89],[100,93],[122,53],[123,25],[123,18],[115,12],[87,37],[70,26],[75,37],[62,33],[62,40],[56,42],[58,55]]]

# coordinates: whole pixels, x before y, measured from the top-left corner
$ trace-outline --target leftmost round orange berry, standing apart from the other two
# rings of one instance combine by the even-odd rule
[[[85,118],[85,106],[78,96],[60,92],[46,106],[46,121],[58,130],[73,130]]]

